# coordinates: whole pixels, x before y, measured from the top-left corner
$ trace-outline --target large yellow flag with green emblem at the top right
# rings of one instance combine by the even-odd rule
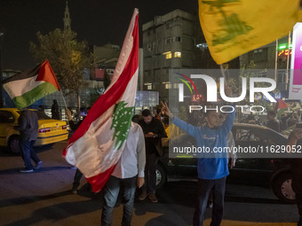
[[[298,21],[299,0],[198,0],[212,58],[223,64],[287,35]]]

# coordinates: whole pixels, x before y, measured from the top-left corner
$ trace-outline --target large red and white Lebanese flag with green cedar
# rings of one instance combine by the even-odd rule
[[[63,156],[99,192],[120,159],[133,115],[139,72],[139,11],[135,9],[107,90],[69,139]]]

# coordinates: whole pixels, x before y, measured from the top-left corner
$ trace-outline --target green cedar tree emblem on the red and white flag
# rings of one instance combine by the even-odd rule
[[[131,127],[131,118],[134,113],[134,107],[125,107],[127,103],[121,101],[115,108],[112,125],[110,129],[115,129],[113,139],[116,137],[115,148],[118,145],[120,149],[123,142],[126,141]]]

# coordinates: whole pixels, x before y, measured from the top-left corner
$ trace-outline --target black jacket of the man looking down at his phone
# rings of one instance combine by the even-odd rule
[[[150,132],[157,135],[157,137],[145,137],[146,143],[146,153],[158,153],[158,155],[162,155],[162,138],[167,137],[166,132],[163,129],[162,121],[159,121],[155,118],[152,119],[150,123],[146,123],[144,120],[139,121],[139,126],[143,129],[144,134],[148,134]]]

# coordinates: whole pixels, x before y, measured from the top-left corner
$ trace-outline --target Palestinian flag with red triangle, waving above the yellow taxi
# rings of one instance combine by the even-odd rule
[[[42,65],[5,79],[2,84],[19,109],[60,90],[48,60],[44,61]]]

